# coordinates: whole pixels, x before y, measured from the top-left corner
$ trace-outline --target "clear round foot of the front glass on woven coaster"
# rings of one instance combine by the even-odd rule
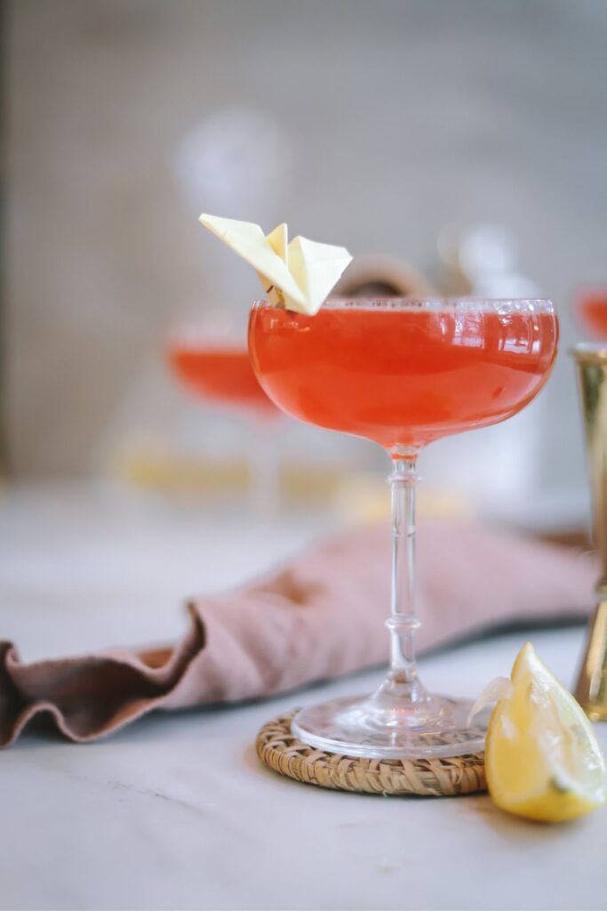
[[[291,731],[325,752],[371,759],[431,759],[462,756],[485,747],[490,711],[474,716],[473,702],[429,695],[420,704],[378,705],[375,696],[334,699],[298,711]]]

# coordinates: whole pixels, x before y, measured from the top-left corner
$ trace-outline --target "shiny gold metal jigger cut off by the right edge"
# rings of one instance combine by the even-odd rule
[[[607,720],[607,347],[580,344],[577,364],[591,480],[594,546],[601,558],[597,605],[575,688],[575,697],[592,721]]]

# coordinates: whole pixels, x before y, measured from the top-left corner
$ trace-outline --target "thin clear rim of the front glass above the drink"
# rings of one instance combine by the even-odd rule
[[[254,308],[276,308],[277,305],[268,299],[253,302]],[[277,308],[284,309],[284,308]],[[515,298],[515,297],[328,297],[321,310],[469,310],[500,311],[524,310],[525,312],[547,312],[554,314],[554,304],[549,298]],[[306,315],[306,314],[303,314]]]

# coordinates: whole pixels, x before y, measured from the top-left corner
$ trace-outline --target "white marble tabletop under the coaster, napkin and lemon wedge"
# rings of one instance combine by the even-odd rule
[[[103,488],[9,491],[0,636],[28,659],[173,636],[183,594],[235,583],[332,524],[299,517],[253,534],[234,516]],[[565,681],[581,637],[533,634]],[[520,645],[520,635],[470,645],[423,660],[423,673],[432,687],[473,694],[509,670]],[[0,907],[604,908],[605,811],[545,827],[501,814],[486,795],[331,793],[258,763],[252,743],[272,714],[377,679],[157,714],[86,746],[26,732],[0,755]]]

